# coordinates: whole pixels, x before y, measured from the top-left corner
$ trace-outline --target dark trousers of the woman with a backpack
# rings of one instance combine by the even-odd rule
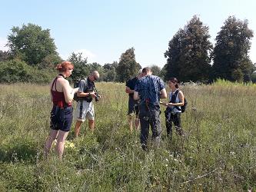
[[[170,137],[172,135],[172,123],[175,124],[175,129],[178,132],[178,134],[182,135],[183,131],[182,131],[182,128],[181,128],[181,113],[165,114],[166,131],[167,131],[167,135],[170,136]]]

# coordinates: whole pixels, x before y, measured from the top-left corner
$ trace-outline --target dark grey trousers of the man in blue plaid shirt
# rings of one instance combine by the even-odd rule
[[[155,144],[160,144],[161,138],[161,122],[160,122],[160,109],[158,106],[147,108],[140,106],[138,117],[141,122],[141,144],[142,147],[147,146],[149,125],[152,131],[152,141]]]

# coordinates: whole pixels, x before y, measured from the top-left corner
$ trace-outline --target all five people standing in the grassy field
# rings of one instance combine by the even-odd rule
[[[95,84],[99,78],[98,71],[93,71],[88,78],[81,79],[78,88],[71,88],[68,78],[73,71],[74,65],[69,61],[63,61],[57,65],[59,74],[50,84],[50,94],[52,98],[51,111],[51,131],[45,142],[45,156],[48,156],[52,148],[52,143],[56,140],[55,151],[58,157],[62,159],[65,139],[71,128],[73,119],[72,100],[74,94],[77,94],[79,100],[75,123],[75,137],[78,137],[81,123],[88,119],[89,128],[94,131],[95,128],[95,111],[92,102],[93,98],[101,96],[95,92]],[[138,72],[135,78],[127,81],[125,92],[129,94],[128,101],[128,124],[133,130],[135,119],[135,128],[138,130],[141,125],[141,147],[143,150],[148,149],[148,131],[151,126],[152,141],[157,146],[161,139],[161,121],[160,121],[160,104],[167,107],[165,111],[165,124],[167,127],[168,137],[171,139],[172,122],[175,124],[176,131],[183,135],[181,128],[181,106],[185,104],[185,98],[178,89],[177,78],[170,78],[168,85],[171,88],[169,101],[161,102],[161,98],[167,98],[165,83],[158,76],[152,74],[151,68],[143,68]]]

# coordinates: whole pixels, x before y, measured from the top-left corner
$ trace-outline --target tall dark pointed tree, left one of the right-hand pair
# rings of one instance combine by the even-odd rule
[[[212,50],[208,31],[195,15],[184,29],[179,29],[165,51],[165,79],[174,76],[181,81],[208,81]]]

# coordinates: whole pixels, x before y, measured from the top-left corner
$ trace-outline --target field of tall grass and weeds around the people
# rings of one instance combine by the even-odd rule
[[[161,147],[148,152],[129,131],[125,84],[97,88],[95,132],[83,124],[75,140],[73,121],[59,161],[42,156],[48,86],[0,84],[0,191],[256,191],[256,86],[181,88],[185,137],[168,141],[162,113]]]

